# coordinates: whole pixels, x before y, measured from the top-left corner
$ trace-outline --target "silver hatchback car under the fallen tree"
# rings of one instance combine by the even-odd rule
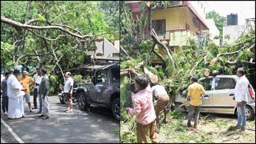
[[[237,115],[237,106],[233,96],[238,79],[237,75],[217,75],[216,77],[199,79],[198,83],[206,90],[200,112]],[[189,111],[189,104],[182,107],[179,106],[187,101],[187,95],[183,95],[185,93],[186,91],[183,91],[175,95],[174,105],[172,105],[173,110]],[[255,117],[255,92],[251,84],[249,84],[247,95],[246,119],[250,120]]]

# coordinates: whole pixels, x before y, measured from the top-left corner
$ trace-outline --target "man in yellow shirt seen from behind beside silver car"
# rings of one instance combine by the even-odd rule
[[[197,129],[197,122],[199,118],[199,112],[202,105],[201,101],[201,93],[202,95],[205,95],[205,89],[203,89],[203,86],[197,83],[198,78],[192,77],[191,81],[193,82],[189,86],[189,92],[187,94],[187,101],[190,99],[190,105],[189,105],[189,115],[188,115],[188,121],[187,121],[187,127],[191,126],[191,120],[193,116],[195,115],[195,122],[194,122],[194,128]]]

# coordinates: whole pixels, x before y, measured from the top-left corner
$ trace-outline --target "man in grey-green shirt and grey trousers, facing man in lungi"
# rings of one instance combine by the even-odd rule
[[[43,78],[39,85],[38,94],[40,94],[42,96],[43,109],[42,109],[42,114],[38,117],[42,117],[42,119],[47,119],[50,117],[50,114],[49,114],[50,107],[49,107],[49,100],[48,100],[49,77],[47,75],[46,69],[41,69],[41,74],[42,74]]]

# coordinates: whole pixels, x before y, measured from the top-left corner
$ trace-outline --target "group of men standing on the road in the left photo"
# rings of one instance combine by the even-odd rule
[[[22,74],[21,77],[18,77]],[[33,78],[27,76],[27,71],[23,70],[20,72],[18,69],[14,71],[8,71],[5,73],[5,79],[2,81],[1,89],[2,93],[2,110],[3,115],[9,115],[9,119],[18,119],[25,117],[23,99],[26,100],[29,111],[32,112],[33,109],[38,109],[37,98],[39,100],[39,111],[37,112],[38,117],[42,119],[47,119],[50,117],[49,111],[49,77],[47,75],[46,69],[37,68],[37,74]],[[73,79],[70,77],[71,73],[67,72],[65,74],[66,82],[64,87],[64,92],[66,93],[66,101],[68,104],[66,113],[73,111],[72,102],[72,89],[73,89]],[[31,107],[30,103],[30,85],[34,85],[33,103],[34,107]]]

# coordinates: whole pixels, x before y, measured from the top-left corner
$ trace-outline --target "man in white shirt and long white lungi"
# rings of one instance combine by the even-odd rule
[[[19,83],[17,77],[19,70],[15,69],[7,79],[7,95],[9,97],[9,119],[25,117],[23,107],[23,95],[26,89]]]

